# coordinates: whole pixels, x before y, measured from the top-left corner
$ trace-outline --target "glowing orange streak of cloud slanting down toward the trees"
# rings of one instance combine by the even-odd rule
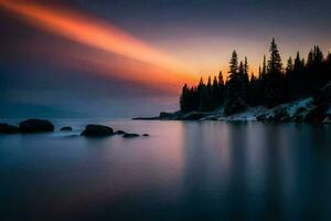
[[[0,7],[29,24],[46,30],[52,34],[89,46],[93,50],[118,54],[145,64],[137,65],[135,63],[130,66],[130,62],[124,62],[121,65],[125,66],[122,69],[126,70],[126,75],[118,77],[134,78],[142,83],[148,83],[148,78],[153,77],[153,83],[171,85],[196,81],[195,76],[191,75],[178,61],[119,28],[83,12],[78,13],[64,8],[51,8],[33,1],[18,0],[0,0]],[[110,69],[105,54],[102,56],[89,55],[83,60],[99,64],[100,69]],[[119,66],[119,64],[115,65],[116,69],[120,69]]]

